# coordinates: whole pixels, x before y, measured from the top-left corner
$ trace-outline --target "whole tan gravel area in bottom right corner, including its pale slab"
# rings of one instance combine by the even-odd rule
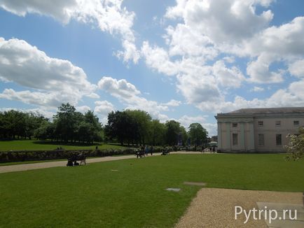
[[[255,220],[254,212],[251,211],[248,221],[246,221],[247,219],[244,213],[237,215],[237,220],[235,220],[235,206],[242,207],[242,210],[247,211],[247,215],[249,210],[253,210],[254,208],[256,210],[263,210],[265,206],[268,206],[268,210],[277,210],[278,217],[276,220],[272,220],[270,224],[268,220],[264,220],[264,213],[261,213],[261,220]],[[297,221],[279,219],[279,216],[282,216],[280,215],[282,210],[289,208],[298,209]],[[237,210],[239,212],[240,208]],[[258,218],[258,212],[256,212],[256,218]],[[191,206],[189,206],[175,228],[196,227],[302,228],[304,227],[302,193],[229,190],[203,187],[195,199],[193,199]]]

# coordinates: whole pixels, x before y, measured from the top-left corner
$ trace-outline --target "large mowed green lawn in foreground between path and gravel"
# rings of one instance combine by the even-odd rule
[[[184,181],[303,192],[304,159],[168,155],[1,173],[0,227],[173,227],[200,190]]]

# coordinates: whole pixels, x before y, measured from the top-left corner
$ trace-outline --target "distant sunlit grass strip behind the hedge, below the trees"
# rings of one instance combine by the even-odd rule
[[[12,140],[12,141],[0,141],[0,151],[7,150],[55,150],[58,147],[62,147],[65,150],[93,150],[96,145],[99,149],[122,149],[125,148],[120,145],[112,144],[98,144],[94,145],[81,145],[81,144],[65,144],[51,141],[36,141],[36,140]]]

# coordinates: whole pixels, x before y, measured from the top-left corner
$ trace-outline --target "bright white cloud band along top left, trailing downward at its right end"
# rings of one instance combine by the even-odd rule
[[[132,31],[135,14],[123,8],[122,3],[123,0],[0,0],[0,7],[20,16],[27,13],[48,15],[64,24],[72,19],[97,24],[102,31],[120,35],[124,50],[118,52],[118,57],[125,62],[131,60],[137,63],[139,51]]]

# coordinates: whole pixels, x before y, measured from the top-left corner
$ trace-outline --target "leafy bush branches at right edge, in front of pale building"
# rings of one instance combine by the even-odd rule
[[[298,160],[303,157],[304,154],[304,127],[300,127],[298,135],[288,135],[289,139],[286,148],[286,159]]]

